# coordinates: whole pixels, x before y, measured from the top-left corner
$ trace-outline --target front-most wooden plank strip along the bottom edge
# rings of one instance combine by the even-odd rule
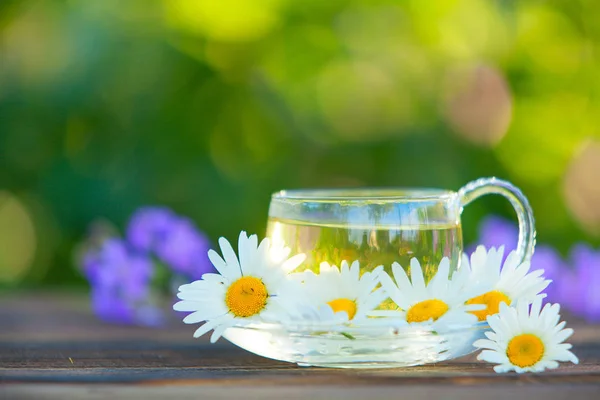
[[[3,392],[2,392],[3,390]],[[205,385],[202,387],[181,384],[166,386],[123,386],[39,384],[9,385],[0,387],[0,394],[11,400],[55,399],[140,399],[177,400],[236,399],[236,400],[355,400],[355,399],[444,399],[444,400],[573,400],[598,399],[596,385],[492,385],[485,388],[449,385],[380,385],[368,387],[343,387],[336,385],[288,385],[288,386],[231,386]]]

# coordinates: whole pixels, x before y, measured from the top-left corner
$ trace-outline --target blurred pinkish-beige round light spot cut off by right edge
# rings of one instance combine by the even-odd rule
[[[567,168],[563,195],[583,229],[600,235],[600,142],[588,142]]]

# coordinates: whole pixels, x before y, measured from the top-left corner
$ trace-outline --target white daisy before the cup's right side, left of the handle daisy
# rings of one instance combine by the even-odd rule
[[[411,325],[431,324],[432,329],[436,331],[476,323],[477,318],[468,311],[480,309],[482,306],[465,304],[468,297],[462,291],[462,281],[457,284],[454,279],[449,279],[449,271],[450,261],[444,257],[437,273],[426,285],[421,264],[416,258],[410,260],[410,279],[400,264],[393,263],[392,272],[396,282],[386,273],[380,274],[380,281],[385,292],[400,310],[378,310],[370,315],[400,316]]]

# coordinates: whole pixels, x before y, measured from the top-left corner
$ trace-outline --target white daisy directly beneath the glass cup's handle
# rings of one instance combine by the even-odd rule
[[[471,254],[471,260],[463,254],[461,270],[470,271],[469,284],[486,287],[484,294],[474,296],[467,304],[483,304],[485,309],[474,311],[480,321],[485,321],[488,315],[498,313],[500,303],[517,304],[520,300],[531,303],[549,284],[550,280],[542,277],[544,270],[529,272],[530,263],[518,264],[516,252],[512,251],[504,266],[502,256],[504,247],[491,248],[486,251],[484,246],[478,246]]]

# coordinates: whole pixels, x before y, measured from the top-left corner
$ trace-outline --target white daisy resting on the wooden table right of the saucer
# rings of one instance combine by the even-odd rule
[[[563,343],[573,329],[563,329],[564,321],[558,323],[560,306],[546,304],[542,309],[542,299],[536,297],[531,311],[527,301],[520,301],[516,308],[500,304],[500,313],[487,317],[493,332],[473,343],[486,349],[477,358],[498,364],[496,372],[541,372],[558,367],[558,361],[579,363],[569,350],[572,346]]]

